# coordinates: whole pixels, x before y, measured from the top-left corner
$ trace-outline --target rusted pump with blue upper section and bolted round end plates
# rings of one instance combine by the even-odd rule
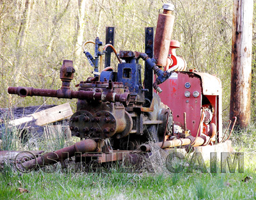
[[[8,93],[22,97],[77,98],[77,112],[69,125],[72,135],[81,139],[110,139],[113,147],[120,150],[134,150],[152,139],[163,141],[166,128],[167,132],[172,130],[172,114],[156,93],[148,107],[144,106],[147,89],[142,86],[138,59],[145,59],[156,73],[161,70],[147,54],[120,51],[120,58],[125,63],[118,64],[118,72],[103,71],[100,78],[81,81],[78,91],[70,89],[75,70],[72,61],[65,60],[60,70],[60,89],[10,87]]]

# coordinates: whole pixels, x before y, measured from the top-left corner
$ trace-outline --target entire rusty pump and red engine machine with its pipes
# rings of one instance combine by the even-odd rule
[[[94,58],[83,45],[84,54],[94,67],[93,77],[81,81],[77,91],[70,89],[75,73],[73,62],[64,60],[60,69],[62,86],[58,90],[10,87],[8,93],[25,96],[77,98],[77,111],[70,118],[69,128],[81,142],[54,154],[24,163],[51,164],[74,153],[115,152],[104,161],[119,160],[118,152],[150,151],[148,141],[161,148],[185,145],[213,146],[225,141],[222,135],[221,81],[214,75],[195,70],[186,72],[186,61],[177,56],[180,43],[171,40],[174,16],[172,4],[164,4],[159,14],[156,36],[154,29],[145,29],[145,53],[113,47],[114,27],[106,28],[106,45],[97,37]],[[118,58],[117,72],[110,66],[111,52]],[[154,52],[154,55],[153,55]],[[99,72],[99,58],[105,54],[105,67]],[[144,81],[139,59],[145,61]],[[154,73],[157,77],[154,77]],[[154,92],[154,89],[157,93]],[[229,135],[230,136],[230,135]],[[228,136],[228,137],[229,137]],[[63,157],[63,152],[69,155]],[[56,155],[58,155],[56,157]],[[48,159],[51,156],[51,159]],[[102,161],[102,160],[101,160]],[[104,162],[103,161],[103,162]]]

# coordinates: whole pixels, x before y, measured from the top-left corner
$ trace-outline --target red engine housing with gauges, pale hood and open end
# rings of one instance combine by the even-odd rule
[[[198,136],[207,134],[210,123],[214,123],[217,129],[215,139],[221,141],[220,79],[208,73],[173,72],[169,79],[161,84],[161,88],[163,92],[159,96],[162,102],[170,107],[174,125],[179,125],[183,130],[190,130],[191,135],[196,137],[198,129]],[[201,108],[204,108],[203,112]],[[200,123],[202,113],[204,123]]]

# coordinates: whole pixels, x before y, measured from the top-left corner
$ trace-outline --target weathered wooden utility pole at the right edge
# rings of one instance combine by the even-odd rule
[[[239,128],[250,122],[252,17],[253,0],[234,0],[230,119],[237,116]]]

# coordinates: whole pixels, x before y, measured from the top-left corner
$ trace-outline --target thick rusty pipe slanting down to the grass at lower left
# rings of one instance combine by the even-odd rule
[[[76,153],[86,153],[95,151],[97,148],[97,142],[92,139],[86,139],[81,142],[76,142],[72,146],[67,146],[58,151],[53,151],[49,153],[45,153],[41,157],[35,158],[33,160],[29,160],[20,164],[19,167],[22,169],[36,169],[37,167],[44,167],[45,165],[56,164],[57,162],[61,162],[67,158],[74,157]]]

